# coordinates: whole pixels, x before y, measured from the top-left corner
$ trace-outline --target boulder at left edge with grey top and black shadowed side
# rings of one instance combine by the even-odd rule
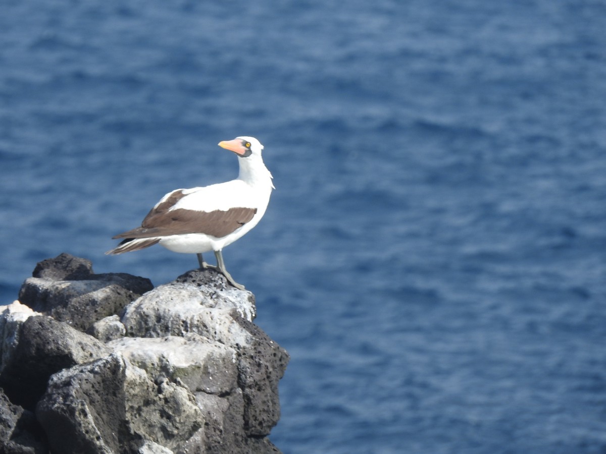
[[[5,344],[0,386],[10,399],[33,410],[59,370],[110,354],[95,338],[45,315],[28,317],[11,344]]]

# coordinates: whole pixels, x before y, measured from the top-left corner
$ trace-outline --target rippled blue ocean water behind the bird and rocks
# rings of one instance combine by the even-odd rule
[[[224,251],[292,357],[285,454],[606,452],[606,4],[2,2],[0,295],[175,188],[276,191]]]

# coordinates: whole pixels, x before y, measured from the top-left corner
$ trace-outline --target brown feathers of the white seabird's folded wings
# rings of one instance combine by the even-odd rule
[[[210,212],[192,209],[168,211],[186,194],[182,189],[171,192],[167,200],[152,208],[141,223],[141,227],[116,235],[116,238],[151,238],[188,233],[204,233],[213,237],[224,237],[249,222],[256,208],[230,208],[227,211]]]

